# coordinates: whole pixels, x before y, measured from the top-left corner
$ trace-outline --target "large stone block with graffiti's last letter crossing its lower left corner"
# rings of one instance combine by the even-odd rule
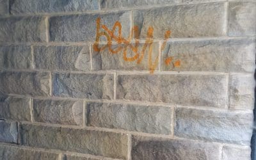
[[[147,37],[148,27],[154,28],[154,38],[164,38],[166,30],[171,37],[198,37],[225,35],[225,4],[198,4],[168,6],[134,11],[134,25]]]

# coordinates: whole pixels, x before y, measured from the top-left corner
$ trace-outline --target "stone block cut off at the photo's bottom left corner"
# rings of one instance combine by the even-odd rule
[[[35,159],[56,159],[59,160],[59,154],[51,152],[43,152],[38,150],[30,150],[7,145],[0,145],[0,159],[3,160],[35,160]]]

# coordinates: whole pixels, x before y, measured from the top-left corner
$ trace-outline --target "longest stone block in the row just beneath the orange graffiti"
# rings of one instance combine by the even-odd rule
[[[196,106],[227,106],[225,75],[120,75],[116,99]]]

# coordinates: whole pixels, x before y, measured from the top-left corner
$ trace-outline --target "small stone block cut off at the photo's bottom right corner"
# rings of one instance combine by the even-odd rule
[[[223,160],[251,160],[251,148],[250,147],[223,147]]]

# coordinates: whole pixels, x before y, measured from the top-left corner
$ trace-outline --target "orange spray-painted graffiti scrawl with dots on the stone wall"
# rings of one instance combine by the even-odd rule
[[[100,18],[98,17],[96,20],[96,38],[95,42],[93,44],[93,49],[94,51],[100,52],[103,51],[104,49],[108,49],[111,54],[117,54],[118,52],[123,52],[123,59],[124,61],[136,61],[137,64],[140,64],[141,61],[144,58],[145,51],[148,48],[148,69],[150,70],[150,74],[154,73],[154,70],[156,70],[156,67],[158,65],[159,61],[159,56],[157,55],[155,60],[152,60],[152,49],[153,49],[153,33],[154,33],[154,28],[149,27],[147,31],[147,38],[145,40],[145,43],[141,49],[141,51],[138,51],[138,46],[140,44],[139,41],[139,28],[138,26],[134,26],[132,28],[131,33],[129,34],[129,37],[125,39],[122,36],[122,25],[120,22],[116,21],[113,28],[109,29],[106,25],[100,24]],[[104,31],[100,31],[100,29],[103,29]],[[117,35],[116,35],[117,34]],[[166,41],[168,38],[170,38],[171,31],[166,31],[164,34],[164,42],[163,45],[161,46],[161,51],[163,51]],[[100,37],[104,36],[107,40],[107,44],[99,47],[99,41]],[[132,37],[134,36],[135,43],[132,44],[131,40]],[[112,48],[112,42],[116,42],[118,44],[118,47],[114,50]],[[121,45],[123,44],[123,45]],[[130,48],[131,51],[133,52],[133,56],[127,57],[127,48]],[[165,60],[166,65],[170,65],[172,61],[172,58],[167,58]],[[178,60],[179,61],[179,60]],[[180,66],[180,61],[175,61],[173,63],[174,67],[179,67]],[[167,64],[168,63],[168,64]]]

